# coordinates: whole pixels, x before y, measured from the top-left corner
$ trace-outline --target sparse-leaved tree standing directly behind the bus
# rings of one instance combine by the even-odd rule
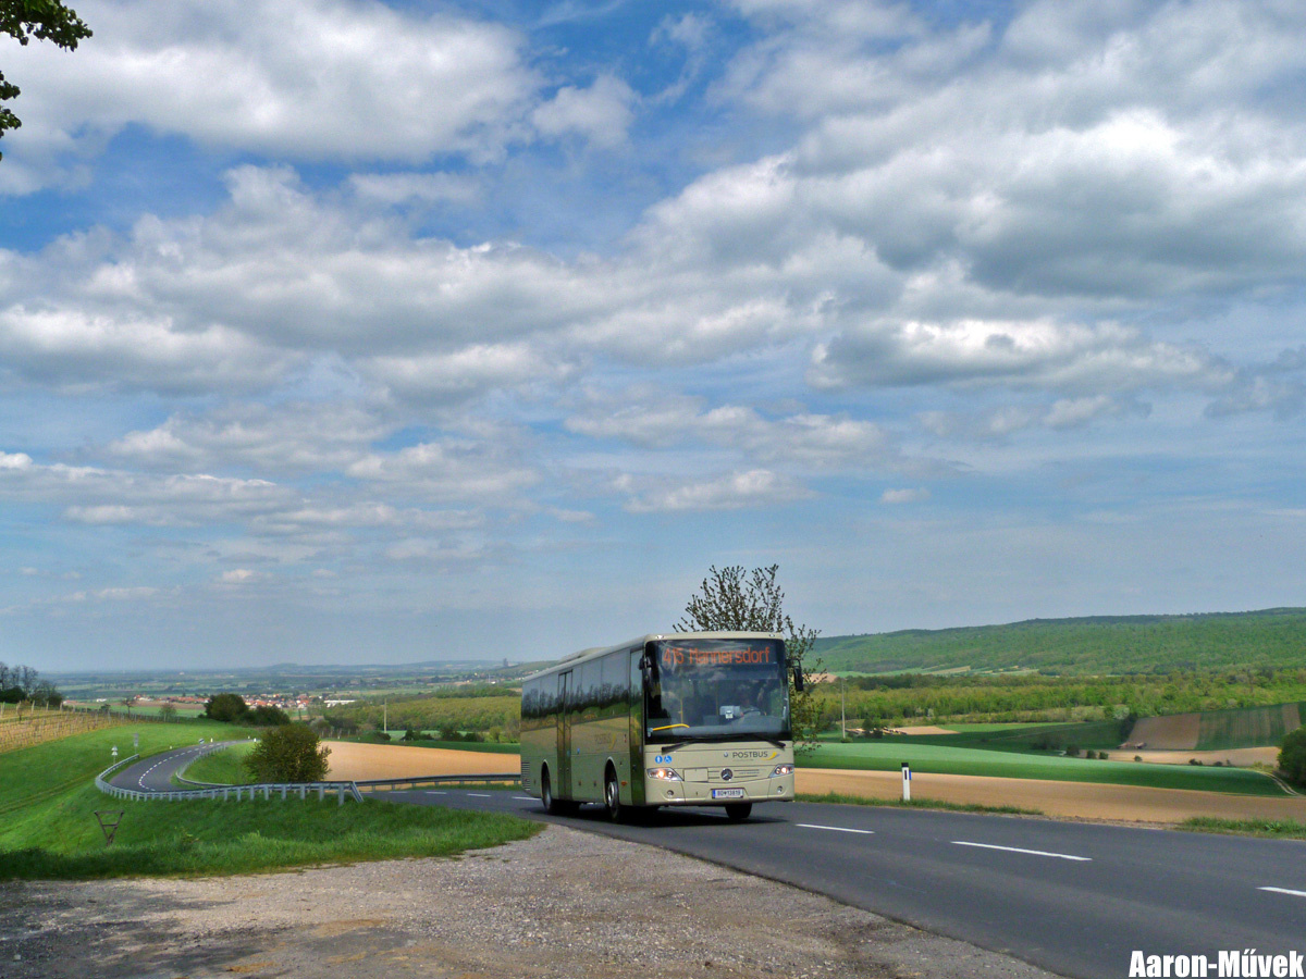
[[[684,615],[675,624],[677,632],[780,632],[786,637],[789,664],[818,674],[821,660],[807,659],[819,634],[806,625],[794,625],[785,614],[785,593],[776,581],[778,564],[744,570],[743,565],[708,569],[708,577],[684,607]],[[794,743],[799,748],[815,745],[820,705],[812,697],[811,685],[802,693],[794,689],[793,671],[789,674],[789,713],[793,721]]]

